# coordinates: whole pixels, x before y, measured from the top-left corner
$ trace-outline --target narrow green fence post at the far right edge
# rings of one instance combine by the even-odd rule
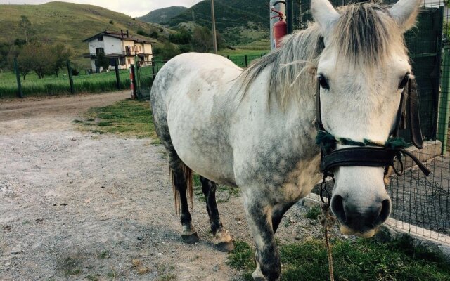
[[[442,141],[442,154],[447,151],[447,138],[449,136],[449,115],[450,115],[450,47],[442,49],[442,84],[441,97],[439,98],[439,121],[437,138]]]

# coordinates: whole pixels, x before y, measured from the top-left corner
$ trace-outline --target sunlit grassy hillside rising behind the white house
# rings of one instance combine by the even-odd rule
[[[103,30],[129,30],[136,35],[139,30],[147,34],[160,32],[160,27],[129,15],[110,11],[92,5],[50,2],[41,5],[0,5],[0,42],[11,43],[15,39],[25,39],[25,32],[20,27],[20,16],[30,20],[31,38],[51,44],[63,42],[72,47],[76,63],[82,67],[89,66],[89,60],[82,58],[82,53],[89,53],[86,42],[82,40]]]

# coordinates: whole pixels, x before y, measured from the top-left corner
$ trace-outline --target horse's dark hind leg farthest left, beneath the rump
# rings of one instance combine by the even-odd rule
[[[169,166],[172,172],[172,185],[174,188],[175,197],[175,208],[176,211],[181,209],[181,225],[183,226],[183,233],[181,233],[181,238],[183,242],[187,244],[193,244],[198,241],[198,235],[192,226],[191,213],[189,213],[188,207],[188,197],[186,195],[186,190],[189,191],[191,202],[192,202],[192,178],[191,169],[188,168],[178,155],[176,155],[175,150],[168,149],[169,155]]]

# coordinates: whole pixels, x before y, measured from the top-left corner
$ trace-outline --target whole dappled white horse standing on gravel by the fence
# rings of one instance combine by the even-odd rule
[[[252,276],[278,280],[278,224],[321,178],[314,143],[317,79],[326,131],[385,143],[411,73],[403,34],[420,2],[336,11],[328,0],[312,0],[315,22],[245,70],[205,53],[179,55],[162,67],[150,100],[181,205],[184,242],[198,240],[186,195],[192,196],[191,171],[201,175],[214,243],[222,251],[233,249],[233,241],[219,218],[216,183],[238,186],[256,244]],[[371,237],[389,216],[383,171],[335,168],[331,207],[342,233]]]

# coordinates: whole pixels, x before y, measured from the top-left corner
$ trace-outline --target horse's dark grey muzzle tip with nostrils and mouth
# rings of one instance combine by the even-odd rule
[[[331,199],[331,209],[338,218],[343,234],[372,237],[378,226],[386,221],[391,211],[391,200],[378,199],[370,206],[358,207],[346,202],[340,195]]]

